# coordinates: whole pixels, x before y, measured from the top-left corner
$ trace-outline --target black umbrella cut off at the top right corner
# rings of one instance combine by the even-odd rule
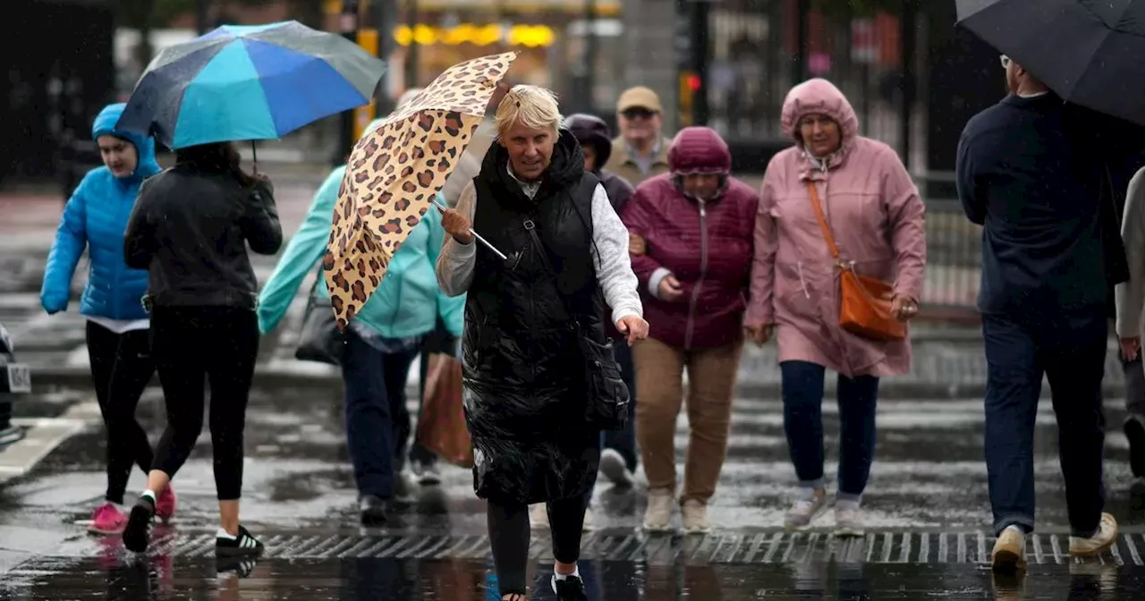
[[[1145,0],[957,0],[958,24],[1064,100],[1145,125]]]

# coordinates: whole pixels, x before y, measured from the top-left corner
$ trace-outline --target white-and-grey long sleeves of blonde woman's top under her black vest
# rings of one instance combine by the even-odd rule
[[[521,190],[532,197],[537,193],[536,184],[521,183]],[[461,191],[457,200],[457,212],[473,221],[477,206],[477,191],[473,183]],[[480,232],[479,232],[480,234]],[[590,248],[592,261],[597,268],[597,282],[605,294],[605,302],[613,309],[613,323],[624,317],[643,317],[643,306],[637,287],[639,282],[632,272],[632,261],[629,258],[629,230],[608,200],[605,187],[597,184],[592,195],[592,239]],[[437,284],[442,292],[450,296],[464,294],[473,283],[473,268],[477,260],[476,240],[461,244],[452,236],[445,237],[441,254],[437,256]],[[510,253],[511,248],[500,248]]]

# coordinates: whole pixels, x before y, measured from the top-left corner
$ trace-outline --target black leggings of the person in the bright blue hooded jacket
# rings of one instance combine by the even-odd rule
[[[132,466],[151,468],[151,443],[135,419],[140,396],[155,374],[151,341],[147,330],[117,334],[95,323],[87,323],[87,356],[92,383],[108,428],[108,492],[104,499],[124,503]]]

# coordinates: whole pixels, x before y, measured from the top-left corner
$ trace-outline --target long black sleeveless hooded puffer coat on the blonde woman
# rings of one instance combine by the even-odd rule
[[[532,199],[508,175],[507,161],[505,149],[493,144],[474,180],[473,227],[508,260],[477,246],[465,311],[465,413],[477,496],[531,504],[584,495],[600,461],[600,433],[585,424],[583,370],[575,369],[584,358],[566,311],[568,306],[603,342],[591,259],[598,180],[585,173],[568,133]]]

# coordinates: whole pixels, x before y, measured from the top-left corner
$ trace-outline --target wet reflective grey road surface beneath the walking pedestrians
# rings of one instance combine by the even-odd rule
[[[149,389],[141,403],[152,433],[163,416],[159,401],[159,392]],[[42,401],[53,402],[64,401]],[[90,401],[72,406],[89,408]],[[1120,424],[1119,403],[1107,404],[1107,416]],[[208,436],[200,437],[175,480],[179,516],[156,530],[149,567],[136,566],[116,537],[84,532],[104,484],[103,436],[90,422],[29,474],[0,488],[0,596],[235,599],[227,595],[238,594],[237,587],[242,599],[484,599],[489,540],[468,472],[445,467],[442,485],[421,489],[388,528],[363,529],[340,419],[337,388],[255,390],[243,515],[268,552],[235,582],[216,577],[212,557]],[[838,445],[832,403],[824,405],[824,419],[832,458]],[[1132,599],[1127,591],[1145,585],[1145,485],[1129,473],[1127,442],[1114,428],[1106,453],[1108,511],[1122,536],[1111,553],[1075,563],[1065,554],[1064,490],[1048,403],[1037,418],[1039,533],[1029,540],[1030,575],[1022,596],[994,596],[985,569],[994,540],[985,531],[981,421],[977,400],[883,402],[864,497],[868,532],[843,539],[834,536],[830,514],[804,532],[776,528],[795,492],[780,403],[739,398],[728,461],[712,500],[711,535],[647,536],[638,528],[642,476],[632,490],[598,484],[594,528],[584,538],[585,575],[603,591],[593,599],[1079,598],[1065,596],[1073,588],[1085,592],[1081,599]],[[681,418],[681,465],[685,428]],[[829,461],[829,476],[834,470]],[[129,490],[142,484],[142,473],[135,473]],[[547,536],[536,532],[531,551],[537,574],[545,574],[552,561]],[[144,577],[148,570],[156,575]]]

